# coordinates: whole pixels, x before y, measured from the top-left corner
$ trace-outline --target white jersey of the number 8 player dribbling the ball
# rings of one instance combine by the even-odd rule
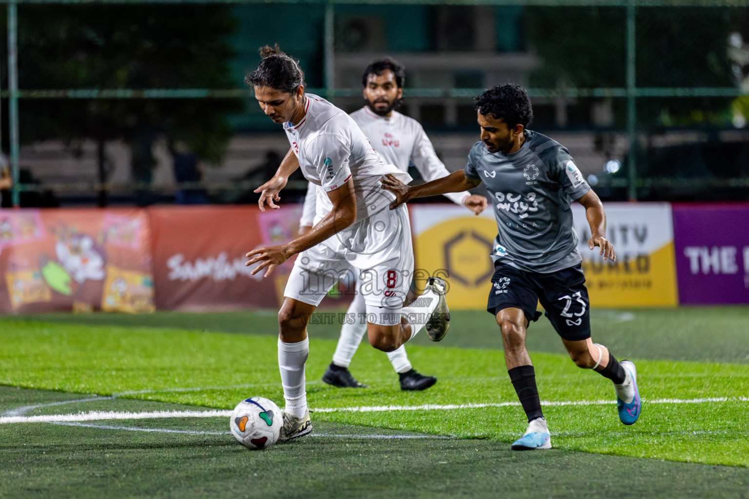
[[[305,94],[305,116],[297,123],[284,123],[292,150],[304,177],[318,189],[315,223],[333,209],[327,192],[338,189],[349,178],[357,196],[357,221],[389,206],[395,195],[380,187],[380,178],[393,174],[403,183],[409,174],[386,165],[372,149],[366,135],[344,111],[322,97]]]

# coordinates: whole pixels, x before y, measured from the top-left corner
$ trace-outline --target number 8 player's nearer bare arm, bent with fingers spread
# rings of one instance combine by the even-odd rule
[[[251,258],[245,263],[246,266],[260,262],[260,265],[252,270],[253,275],[267,267],[263,275],[264,278],[267,278],[276,266],[284,263],[292,255],[312,248],[312,246],[323,242],[354,223],[357,219],[357,198],[354,195],[354,181],[349,178],[345,184],[328,192],[327,195],[333,203],[333,209],[307,233],[297,236],[297,239],[292,239],[285,245],[258,248],[245,255]]]

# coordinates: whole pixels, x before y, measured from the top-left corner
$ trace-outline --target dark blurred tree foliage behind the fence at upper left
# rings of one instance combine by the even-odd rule
[[[236,88],[227,5],[21,5],[19,87]],[[133,146],[133,176],[149,182],[159,135],[218,162],[239,99],[22,100],[21,137],[121,138]]]

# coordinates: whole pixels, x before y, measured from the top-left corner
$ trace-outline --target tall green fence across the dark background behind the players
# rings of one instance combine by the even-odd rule
[[[264,43],[300,58],[310,91],[347,111],[362,105],[369,61],[398,58],[401,111],[451,170],[476,140],[473,97],[514,81],[533,99],[531,127],[567,145],[604,198],[749,198],[745,2],[39,3],[7,3],[16,203],[51,191],[252,200],[288,147],[241,84]],[[197,159],[220,168],[179,174]]]

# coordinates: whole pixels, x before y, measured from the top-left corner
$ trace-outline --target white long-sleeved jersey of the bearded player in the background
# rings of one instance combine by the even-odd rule
[[[425,182],[450,174],[437,158],[424,128],[413,118],[398,111],[392,111],[389,117],[379,116],[366,105],[350,116],[386,163],[395,165],[401,171],[408,171],[408,165],[413,161]],[[450,192],[445,195],[460,206],[463,206],[463,201],[468,196],[470,192]]]

